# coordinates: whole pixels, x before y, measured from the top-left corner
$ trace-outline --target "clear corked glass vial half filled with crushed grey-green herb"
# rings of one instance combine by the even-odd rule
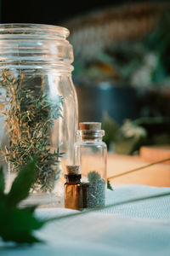
[[[83,207],[105,206],[107,147],[101,123],[80,123],[74,144],[74,163],[81,167]]]

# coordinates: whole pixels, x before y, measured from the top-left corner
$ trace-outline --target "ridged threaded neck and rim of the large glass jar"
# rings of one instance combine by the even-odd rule
[[[57,68],[73,70],[73,51],[66,40],[65,27],[39,24],[0,25],[0,65],[2,67]]]

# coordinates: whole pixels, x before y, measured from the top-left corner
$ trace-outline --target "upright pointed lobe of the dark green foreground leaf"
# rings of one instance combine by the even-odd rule
[[[36,159],[31,160],[31,162],[21,169],[18,176],[14,179],[14,183],[7,196],[8,207],[16,206],[29,195],[31,183],[34,182],[36,177],[36,164]]]

